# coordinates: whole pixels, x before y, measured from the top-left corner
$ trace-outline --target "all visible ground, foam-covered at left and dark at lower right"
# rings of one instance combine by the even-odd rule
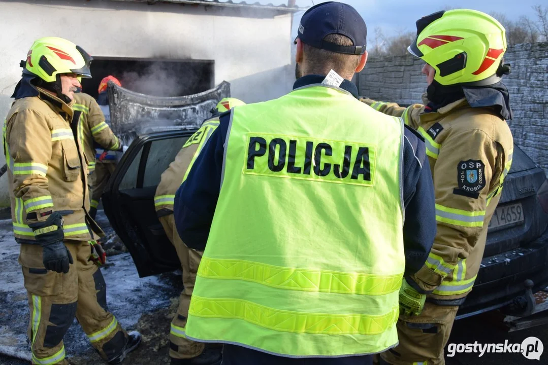
[[[102,269],[107,282],[110,310],[123,327],[137,329],[143,335],[139,349],[124,362],[132,365],[168,364],[169,323],[178,305],[182,289],[180,272],[165,273],[140,279],[132,258],[125,252],[106,217],[99,213],[98,222],[109,237],[105,248],[109,263]],[[0,364],[22,365],[30,351],[26,343],[28,307],[21,269],[17,263],[19,246],[13,239],[11,221],[0,221]],[[548,346],[548,326],[507,333],[498,312],[466,318],[455,322],[449,344],[522,343],[528,337],[539,338]],[[65,336],[69,361],[74,365],[102,363],[92,350],[77,322]],[[3,355],[2,355],[3,354]],[[7,356],[9,355],[9,356]],[[548,364],[548,352],[539,362],[527,360],[521,354],[456,354],[447,357],[447,365],[520,365]]]

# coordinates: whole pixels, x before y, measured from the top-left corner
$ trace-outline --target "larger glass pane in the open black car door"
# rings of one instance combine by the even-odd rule
[[[175,160],[175,156],[179,153],[182,145],[188,138],[179,137],[151,142],[149,156],[146,161],[143,187],[157,186],[159,184],[162,172]]]

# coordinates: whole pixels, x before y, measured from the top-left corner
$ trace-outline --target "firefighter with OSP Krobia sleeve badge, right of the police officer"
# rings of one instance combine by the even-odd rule
[[[426,62],[424,105],[363,100],[403,117],[424,137],[436,194],[436,240],[423,268],[404,282],[409,297],[397,325],[399,345],[381,356],[392,365],[444,364],[443,347],[476,280],[513,150],[501,81],[509,73],[504,27],[466,9],[439,11],[416,26],[408,50]],[[424,309],[414,296],[427,296]]]

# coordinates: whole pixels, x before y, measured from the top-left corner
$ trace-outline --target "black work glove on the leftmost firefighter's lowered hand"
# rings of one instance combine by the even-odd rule
[[[63,244],[63,217],[54,212],[44,222],[32,223],[35,238],[42,246],[44,268],[56,273],[68,273],[68,264],[73,264],[72,256]]]

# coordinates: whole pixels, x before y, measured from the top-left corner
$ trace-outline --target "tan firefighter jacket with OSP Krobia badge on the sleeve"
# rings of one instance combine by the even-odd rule
[[[435,188],[437,234],[425,265],[412,279],[431,299],[454,301],[471,291],[481,265],[487,228],[512,164],[506,121],[461,99],[426,113],[424,105],[362,99],[397,117],[424,137]],[[428,103],[426,95],[423,96]]]

